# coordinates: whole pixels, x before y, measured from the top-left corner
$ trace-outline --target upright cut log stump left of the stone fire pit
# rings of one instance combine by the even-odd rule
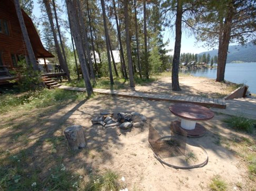
[[[81,125],[72,125],[64,130],[68,146],[73,150],[78,150],[86,146],[86,139]]]

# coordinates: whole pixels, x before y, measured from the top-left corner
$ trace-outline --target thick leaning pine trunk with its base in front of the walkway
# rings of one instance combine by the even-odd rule
[[[86,90],[87,90],[87,94],[88,96],[91,96],[92,94],[94,94],[93,92],[93,88],[90,82],[90,78],[89,78],[89,72],[86,66],[86,61],[85,61],[85,54],[83,51],[83,44],[82,44],[82,38],[81,38],[81,33],[78,27],[78,18],[77,15],[75,13],[75,9],[74,9],[74,5],[72,0],[66,0],[67,3],[67,14],[70,18],[70,28],[72,30],[72,34],[74,37],[74,42],[75,42],[75,46],[76,46],[76,50],[77,50],[77,54],[79,57],[79,61],[80,61],[80,65],[81,65],[81,70],[84,76],[84,82],[85,82],[85,86],[86,86]]]

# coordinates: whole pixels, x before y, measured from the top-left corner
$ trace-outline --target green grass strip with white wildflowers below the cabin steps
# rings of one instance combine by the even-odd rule
[[[9,112],[11,109],[45,108],[60,104],[67,100],[83,100],[87,95],[82,92],[67,91],[63,89],[42,89],[29,91],[21,96],[5,94],[0,96],[0,113]]]

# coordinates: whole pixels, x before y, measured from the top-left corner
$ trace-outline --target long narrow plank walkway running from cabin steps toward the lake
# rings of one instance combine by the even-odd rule
[[[59,89],[75,90],[75,91],[86,91],[86,88],[76,88],[69,86],[60,86]],[[94,89],[95,93],[99,94],[110,94],[115,96],[123,97],[137,97],[146,98],[148,100],[158,100],[158,101],[169,101],[169,102],[181,102],[181,103],[194,103],[197,105],[202,105],[205,107],[212,108],[226,108],[225,100],[206,98],[200,96],[176,96],[167,94],[148,94],[138,91],[120,91],[111,89]]]

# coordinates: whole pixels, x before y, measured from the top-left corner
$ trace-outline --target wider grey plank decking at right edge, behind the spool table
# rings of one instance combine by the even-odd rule
[[[226,100],[226,105],[226,109],[212,108],[212,110],[227,115],[243,115],[256,120],[256,98]]]

